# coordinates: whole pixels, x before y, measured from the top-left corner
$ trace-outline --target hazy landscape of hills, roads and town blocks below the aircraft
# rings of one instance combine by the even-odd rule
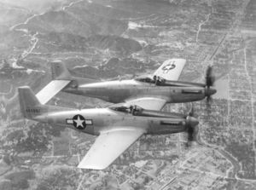
[[[179,80],[216,78],[193,102],[198,141],[144,135],[106,170],[76,166],[96,137],[23,118],[17,87],[51,81],[50,63],[102,81],[186,59]],[[191,103],[163,109],[188,112]],[[111,103],[56,95],[48,105]],[[256,189],[256,0],[0,0],[0,190]],[[102,155],[103,156],[103,155]]]

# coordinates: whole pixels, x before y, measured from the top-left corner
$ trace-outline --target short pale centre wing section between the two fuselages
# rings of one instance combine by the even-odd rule
[[[130,99],[125,101],[128,105],[137,105],[138,107],[143,107],[148,110],[160,111],[165,105],[166,100],[156,97],[142,97],[137,99]]]

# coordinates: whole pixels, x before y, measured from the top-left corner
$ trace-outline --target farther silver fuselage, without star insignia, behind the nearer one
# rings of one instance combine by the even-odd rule
[[[206,97],[206,88],[202,85],[193,85],[193,83],[156,85],[155,83],[143,83],[134,79],[79,84],[75,88],[67,87],[63,91],[113,103],[147,97],[148,95],[165,99],[167,103],[200,101]]]

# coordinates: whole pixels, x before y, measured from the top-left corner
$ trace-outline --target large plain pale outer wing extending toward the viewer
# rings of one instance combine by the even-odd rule
[[[137,139],[144,134],[144,130],[125,128],[102,132],[82,161],[79,168],[103,170],[124,153]]]

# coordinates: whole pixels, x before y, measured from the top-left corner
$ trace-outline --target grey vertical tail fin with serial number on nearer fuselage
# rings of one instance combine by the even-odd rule
[[[23,86],[18,89],[20,111],[25,118],[34,118],[41,114],[41,108],[44,107],[39,101],[36,95],[32,92],[28,86]]]

